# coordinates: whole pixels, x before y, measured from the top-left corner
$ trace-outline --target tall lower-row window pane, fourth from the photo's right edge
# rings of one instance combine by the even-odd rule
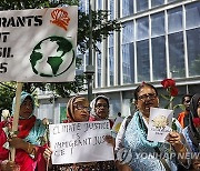
[[[150,80],[149,40],[137,42],[138,81]]]

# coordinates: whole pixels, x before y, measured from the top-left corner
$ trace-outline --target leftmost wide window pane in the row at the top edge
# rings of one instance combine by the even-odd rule
[[[133,0],[122,0],[122,17],[133,13]]]

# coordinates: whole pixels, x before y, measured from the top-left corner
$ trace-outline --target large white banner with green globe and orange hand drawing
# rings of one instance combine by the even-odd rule
[[[0,11],[0,81],[73,81],[78,8]]]

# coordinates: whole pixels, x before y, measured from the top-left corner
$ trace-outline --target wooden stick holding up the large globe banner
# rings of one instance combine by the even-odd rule
[[[22,87],[23,87],[22,82],[17,82],[16,109],[14,109],[14,113],[13,113],[12,132],[18,131],[18,121],[19,121],[19,111],[20,111],[20,101],[21,101]],[[14,161],[16,149],[10,148],[10,152],[11,152],[11,161]]]

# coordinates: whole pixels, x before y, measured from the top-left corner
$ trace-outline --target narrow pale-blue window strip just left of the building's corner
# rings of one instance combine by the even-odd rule
[[[113,72],[114,72],[114,59],[113,59],[113,34],[109,37],[109,76],[110,76],[110,86],[113,86]]]

